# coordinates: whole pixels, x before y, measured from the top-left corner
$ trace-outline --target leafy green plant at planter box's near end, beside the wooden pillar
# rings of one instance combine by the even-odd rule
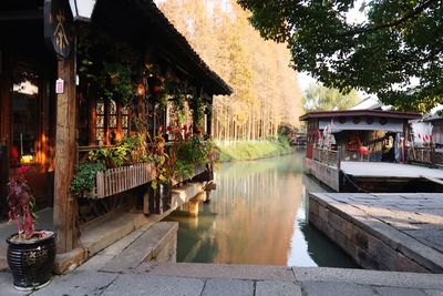
[[[70,185],[71,193],[75,196],[91,193],[94,188],[96,174],[104,171],[106,171],[106,166],[101,162],[79,164]]]

